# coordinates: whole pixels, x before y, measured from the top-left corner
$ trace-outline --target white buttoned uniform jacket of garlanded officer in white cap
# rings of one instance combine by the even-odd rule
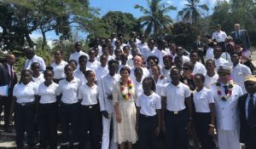
[[[221,95],[225,95],[223,84],[221,84],[220,90]],[[216,121],[218,129],[237,129],[239,126],[239,110],[237,104],[238,98],[242,95],[241,87],[234,83],[234,87],[232,88],[232,94],[227,101],[219,99],[216,83],[212,84],[211,91],[215,101],[215,111],[217,117]]]

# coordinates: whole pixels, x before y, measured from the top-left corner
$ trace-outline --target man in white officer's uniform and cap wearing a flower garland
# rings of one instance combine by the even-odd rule
[[[215,101],[218,148],[240,149],[238,98],[242,95],[240,85],[233,83],[230,66],[219,66],[218,82],[212,83]]]

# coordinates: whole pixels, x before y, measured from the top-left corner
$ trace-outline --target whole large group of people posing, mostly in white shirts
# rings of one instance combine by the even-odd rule
[[[40,147],[55,149],[58,125],[62,149],[83,149],[87,141],[93,149],[131,149],[136,143],[141,149],[188,149],[195,138],[203,149],[239,149],[241,142],[253,149],[256,77],[244,31],[237,31],[224,37],[217,26],[207,48],[197,37],[189,56],[181,45],[163,38],[146,42],[136,32],[128,43],[122,34],[96,37],[88,54],[77,42],[68,62],[57,49],[50,66],[27,48],[19,82],[15,55],[9,54],[0,67],[0,86],[9,88],[0,96],[4,130],[11,131],[14,112],[18,149],[25,132],[28,148],[39,132]]]

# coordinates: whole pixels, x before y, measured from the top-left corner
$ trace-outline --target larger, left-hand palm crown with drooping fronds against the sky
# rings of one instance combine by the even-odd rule
[[[176,10],[176,7],[167,3],[160,3],[160,0],[147,0],[149,9],[136,4],[135,9],[140,9],[144,16],[140,17],[141,26],[146,27],[145,34],[153,32],[154,36],[163,32],[169,32],[172,25],[172,18],[167,15],[170,10]]]

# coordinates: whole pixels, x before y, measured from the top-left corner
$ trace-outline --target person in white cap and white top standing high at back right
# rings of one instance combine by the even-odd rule
[[[221,31],[221,26],[216,25],[216,31],[212,33],[212,40],[215,39],[218,44],[225,49],[225,39],[227,38],[227,34],[224,31]]]

